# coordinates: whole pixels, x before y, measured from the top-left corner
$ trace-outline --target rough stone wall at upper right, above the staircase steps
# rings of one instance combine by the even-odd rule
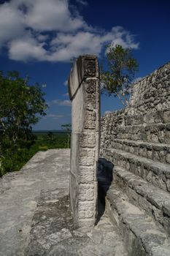
[[[131,108],[136,113],[153,112],[170,108],[170,63],[152,72],[134,84]]]

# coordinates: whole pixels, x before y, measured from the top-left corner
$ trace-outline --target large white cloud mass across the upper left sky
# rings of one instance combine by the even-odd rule
[[[87,4],[85,0],[77,0]],[[137,49],[139,43],[123,27],[111,31],[89,26],[69,0],[11,0],[0,5],[0,48],[16,61],[70,61],[104,45],[120,44]]]

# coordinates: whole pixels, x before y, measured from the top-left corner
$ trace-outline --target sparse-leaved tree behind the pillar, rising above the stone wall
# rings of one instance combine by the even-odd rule
[[[131,49],[124,49],[121,45],[107,47],[107,67],[101,67],[101,91],[109,96],[118,97],[124,106],[128,105],[128,94],[131,91],[132,81],[138,64]]]

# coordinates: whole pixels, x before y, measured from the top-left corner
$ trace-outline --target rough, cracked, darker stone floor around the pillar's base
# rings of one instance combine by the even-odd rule
[[[93,203],[82,210],[90,218]],[[57,209],[57,210],[56,210]],[[127,256],[120,235],[105,214],[94,228],[74,228],[69,195],[60,189],[43,190],[28,237],[26,256]]]

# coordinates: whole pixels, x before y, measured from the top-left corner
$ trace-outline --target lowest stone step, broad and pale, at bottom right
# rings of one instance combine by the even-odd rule
[[[128,255],[169,256],[169,236],[161,225],[128,201],[128,197],[112,187],[107,192],[106,210],[120,229]]]

